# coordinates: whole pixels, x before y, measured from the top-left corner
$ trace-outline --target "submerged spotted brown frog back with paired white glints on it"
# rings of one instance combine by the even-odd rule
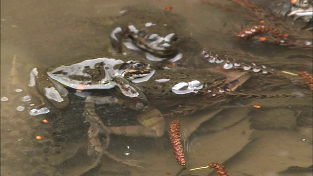
[[[175,68],[158,70],[148,81],[137,85],[149,98],[184,98],[196,95],[197,90],[202,89],[205,84],[224,78],[224,74],[206,68]]]

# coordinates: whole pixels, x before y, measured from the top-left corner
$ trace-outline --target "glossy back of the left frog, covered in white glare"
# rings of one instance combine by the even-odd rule
[[[96,58],[51,69],[47,75],[75,89],[109,89],[115,86],[112,78],[124,62],[112,58]]]

